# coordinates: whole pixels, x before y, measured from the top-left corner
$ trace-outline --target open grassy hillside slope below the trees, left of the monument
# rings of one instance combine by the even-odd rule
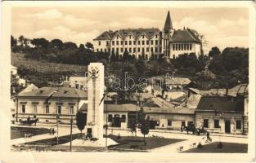
[[[26,59],[25,54],[11,53],[11,65],[17,68],[33,69],[38,73],[61,73],[61,72],[74,72],[80,73],[86,71],[86,66],[75,64],[56,64],[47,61],[38,61],[34,59]]]

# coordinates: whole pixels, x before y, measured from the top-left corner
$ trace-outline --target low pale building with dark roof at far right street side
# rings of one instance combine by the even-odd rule
[[[240,97],[201,97],[195,126],[214,133],[245,134],[245,102]]]

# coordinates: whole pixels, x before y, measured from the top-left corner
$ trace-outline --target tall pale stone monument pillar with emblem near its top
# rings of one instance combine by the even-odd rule
[[[91,63],[88,66],[88,115],[87,128],[92,138],[103,139],[104,101],[104,65]]]

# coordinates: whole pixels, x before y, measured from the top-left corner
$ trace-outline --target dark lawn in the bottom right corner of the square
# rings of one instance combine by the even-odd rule
[[[209,152],[221,152],[221,153],[246,153],[248,152],[248,144],[247,143],[225,143],[222,142],[222,148],[217,148],[218,142],[209,143],[203,145],[203,148],[192,148],[184,152],[201,152],[201,153],[209,153]]]

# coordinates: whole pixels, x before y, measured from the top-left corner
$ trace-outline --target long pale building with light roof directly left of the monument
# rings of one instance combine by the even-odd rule
[[[40,123],[70,123],[70,118],[88,103],[83,90],[66,87],[43,87],[16,96],[16,121],[36,116]]]

